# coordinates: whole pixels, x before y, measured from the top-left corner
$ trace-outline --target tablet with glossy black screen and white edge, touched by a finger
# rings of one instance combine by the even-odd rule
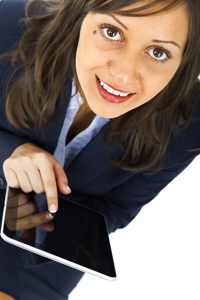
[[[38,259],[43,256],[42,259],[46,257],[46,260],[55,260],[110,281],[116,279],[106,220],[101,213],[68,200],[67,195],[63,195],[58,196],[58,210],[51,220],[53,231],[38,226],[16,230],[21,194],[28,195],[28,201],[36,203],[38,212],[48,211],[45,193],[24,193],[7,185],[0,230],[5,241],[38,254],[33,254]],[[8,220],[11,227],[6,225]]]

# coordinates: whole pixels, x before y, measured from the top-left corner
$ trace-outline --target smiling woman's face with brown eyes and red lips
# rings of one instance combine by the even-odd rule
[[[104,118],[142,105],[167,85],[181,62],[189,29],[185,6],[155,16],[114,17],[121,24],[111,15],[89,12],[76,52],[77,76],[87,105]],[[116,95],[104,89],[96,76]],[[117,91],[132,94],[120,96]]]

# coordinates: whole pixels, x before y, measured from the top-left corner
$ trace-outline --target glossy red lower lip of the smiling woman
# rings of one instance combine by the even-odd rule
[[[101,97],[103,99],[105,99],[106,101],[112,102],[112,103],[115,103],[115,104],[126,102],[127,100],[129,100],[129,98],[131,96],[133,96],[135,94],[135,93],[130,93],[127,96],[113,95],[113,94],[109,93],[108,91],[106,91],[106,89],[104,89],[102,85],[100,85],[100,80],[98,79],[97,76],[96,76],[96,84],[97,84],[98,92],[101,95]]]

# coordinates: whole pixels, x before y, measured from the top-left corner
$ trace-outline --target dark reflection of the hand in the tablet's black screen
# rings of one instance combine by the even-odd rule
[[[5,224],[10,231],[30,229],[36,226],[52,231],[53,222],[51,220],[54,213],[51,218],[46,218],[48,214],[47,211],[39,212],[37,203],[30,194],[23,193],[20,189],[8,189]],[[26,230],[23,235],[30,232],[33,231]]]

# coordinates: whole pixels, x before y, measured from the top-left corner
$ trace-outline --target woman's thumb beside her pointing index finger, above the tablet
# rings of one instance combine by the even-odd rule
[[[55,174],[56,183],[60,192],[69,194],[71,190],[68,186],[68,179],[66,177],[65,171],[63,170],[63,167],[56,159],[53,161],[53,170]]]

